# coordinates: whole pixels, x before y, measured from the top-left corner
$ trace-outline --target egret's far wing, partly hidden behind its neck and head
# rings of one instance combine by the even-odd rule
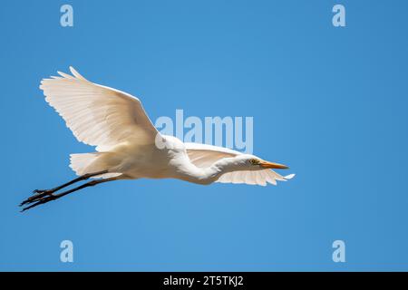
[[[199,143],[185,143],[189,160],[199,167],[206,168],[214,162],[229,157],[235,157],[242,154],[236,150],[230,150],[218,146],[212,146]],[[256,171],[233,171],[224,173],[216,182],[221,183],[246,183],[253,185],[266,186],[267,183],[277,185],[277,180],[286,181],[292,179],[294,174],[281,176],[271,169],[262,169]]]

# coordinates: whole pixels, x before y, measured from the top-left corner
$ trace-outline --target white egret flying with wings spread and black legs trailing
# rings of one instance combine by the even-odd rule
[[[53,189],[35,189],[22,211],[62,198],[74,191],[120,179],[181,179],[197,184],[213,182],[276,185],[295,175],[281,176],[272,169],[287,166],[218,146],[182,142],[160,134],[141,101],[126,92],[60,73],[41,82],[45,101],[57,111],[77,140],[92,153],[71,154],[70,167],[78,178]],[[92,179],[65,190],[74,183]]]

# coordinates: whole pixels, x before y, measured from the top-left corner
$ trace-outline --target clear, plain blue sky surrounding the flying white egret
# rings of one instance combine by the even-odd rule
[[[346,27],[332,25],[332,7]],[[73,5],[74,26],[60,25]],[[406,1],[3,1],[1,270],[408,270]],[[42,78],[73,65],[151,120],[253,116],[277,187],[133,180],[25,214],[74,174]],[[73,241],[74,262],[60,262]],[[332,243],[346,262],[332,261]]]

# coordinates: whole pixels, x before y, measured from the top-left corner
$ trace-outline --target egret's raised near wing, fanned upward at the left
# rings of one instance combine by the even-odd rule
[[[40,89],[45,101],[57,111],[77,140],[109,150],[132,140],[154,143],[159,133],[151,123],[138,98],[87,81],[70,67],[71,73],[44,79]]]

